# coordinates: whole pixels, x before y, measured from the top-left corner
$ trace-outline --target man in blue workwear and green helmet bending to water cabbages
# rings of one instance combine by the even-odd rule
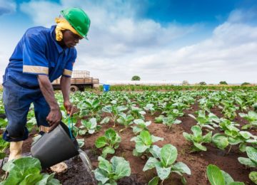
[[[29,28],[9,59],[3,80],[4,108],[8,125],[4,140],[10,142],[9,160],[21,157],[22,143],[28,138],[26,117],[34,104],[40,132],[54,129],[61,121],[61,111],[51,82],[61,76],[64,107],[72,115],[69,100],[71,73],[76,60],[76,46],[86,38],[90,19],[79,8],[61,11],[56,26]]]

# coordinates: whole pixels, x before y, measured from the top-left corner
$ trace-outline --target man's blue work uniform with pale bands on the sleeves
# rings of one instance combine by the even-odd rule
[[[28,138],[26,117],[32,102],[37,125],[49,126],[46,117],[50,108],[39,88],[37,75],[48,75],[51,82],[61,75],[71,77],[76,48],[59,46],[55,28],[29,28],[9,59],[3,79],[4,108],[9,121],[3,138],[7,142]]]

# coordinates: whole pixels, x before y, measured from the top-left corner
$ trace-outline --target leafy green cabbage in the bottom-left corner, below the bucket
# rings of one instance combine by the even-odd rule
[[[29,185],[29,184],[46,184],[57,185],[59,180],[54,179],[54,174],[41,174],[41,164],[39,159],[33,157],[23,157],[11,160],[3,166],[3,170],[9,173],[5,181],[1,185]]]

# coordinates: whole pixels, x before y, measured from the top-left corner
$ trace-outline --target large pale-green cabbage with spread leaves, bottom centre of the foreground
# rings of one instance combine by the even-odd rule
[[[183,176],[183,174],[191,174],[191,170],[186,164],[183,162],[176,162],[178,151],[172,144],[165,144],[162,148],[154,145],[151,149],[151,154],[153,157],[149,157],[143,167],[143,171],[156,168],[158,178],[162,181],[168,179],[172,172],[175,172],[180,176]],[[174,162],[176,163],[174,164]],[[185,179],[183,179],[183,181],[184,180]],[[153,181],[157,181],[156,177],[151,180],[152,184]]]

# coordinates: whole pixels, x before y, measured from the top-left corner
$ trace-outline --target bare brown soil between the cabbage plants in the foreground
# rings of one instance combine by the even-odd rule
[[[213,144],[206,144],[207,152],[197,152],[190,153],[191,144],[186,142],[183,138],[183,132],[191,132],[191,126],[196,125],[196,121],[189,117],[188,114],[194,114],[198,110],[198,105],[192,105],[191,109],[185,110],[185,115],[183,117],[178,117],[181,120],[181,125],[173,125],[169,130],[168,127],[162,124],[154,123],[154,117],[149,114],[146,115],[146,120],[151,121],[152,124],[148,127],[151,134],[163,137],[164,140],[161,142],[156,142],[155,144],[162,147],[163,144],[173,144],[178,149],[178,162],[183,162],[188,165],[191,169],[191,176],[186,175],[186,181],[188,184],[209,184],[206,177],[206,166],[208,164],[216,164],[220,169],[228,172],[235,181],[243,181],[246,184],[252,184],[251,180],[248,179],[248,174],[253,171],[253,169],[246,169],[245,166],[238,162],[238,157],[246,157],[239,151],[238,146],[234,146],[229,154],[228,149],[226,151],[221,151],[217,149]],[[217,107],[211,109],[211,112],[216,114],[218,117],[222,117],[221,110]],[[246,124],[246,120],[241,119],[237,116],[236,122],[241,123],[241,125]],[[102,136],[106,129],[114,128],[119,132],[120,129],[124,128],[121,125],[116,125],[113,127],[113,122],[109,122],[108,125],[102,125],[99,132],[86,135],[84,151],[89,155],[93,168],[96,169],[98,165],[97,157],[101,154],[101,149],[96,149],[94,142],[99,136]],[[217,132],[217,131],[216,131]],[[116,156],[124,157],[129,161],[131,166],[131,176],[121,179],[118,184],[147,184],[153,176],[156,176],[155,169],[143,172],[143,166],[146,164],[147,159],[142,159],[141,157],[134,157],[132,152],[135,147],[135,142],[131,142],[130,139],[134,137],[131,128],[125,129],[124,132],[119,132],[121,136],[121,144],[118,149],[116,149]],[[253,132],[255,134],[255,132]],[[31,146],[31,137],[24,144],[24,152],[29,152]],[[111,155],[107,159],[111,159]],[[74,157],[66,161],[69,166],[69,170],[64,174],[56,175],[56,178],[61,181],[62,184],[91,184],[90,179],[87,179],[84,173],[84,167],[81,163],[79,157]],[[169,179],[164,181],[163,184],[182,184],[180,176],[177,174],[172,174]]]

